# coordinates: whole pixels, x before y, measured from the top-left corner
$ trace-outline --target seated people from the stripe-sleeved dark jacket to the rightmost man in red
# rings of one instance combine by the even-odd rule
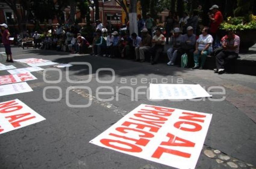
[[[94,56],[108,56],[111,58],[127,58],[134,61],[145,62],[145,57],[150,57],[151,64],[157,64],[161,57],[164,57],[164,46],[166,39],[157,28],[153,37],[148,33],[147,28],[141,30],[141,37],[136,33],[129,36],[129,32],[118,34],[117,31],[109,33],[107,39],[102,37],[101,31],[97,31],[93,42]],[[173,66],[177,58],[187,55],[187,68],[203,69],[206,58],[213,52],[213,37],[208,34],[208,27],[202,29],[202,34],[196,37],[193,34],[193,27],[186,28],[186,34],[181,34],[180,28],[172,30],[167,57],[167,65]],[[227,35],[222,38],[222,49],[218,48],[216,55],[216,73],[223,73],[225,64],[229,59],[238,57],[240,39],[232,30],[227,30]]]

